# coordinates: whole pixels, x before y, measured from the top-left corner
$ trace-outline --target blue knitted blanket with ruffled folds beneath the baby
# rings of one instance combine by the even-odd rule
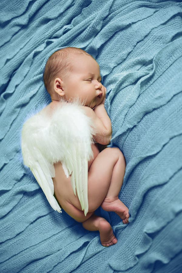
[[[181,272],[182,3],[133,0],[0,2],[0,271]],[[117,244],[54,211],[21,161],[27,114],[50,96],[48,57],[79,47],[99,63],[126,158],[120,199],[130,223],[97,210]]]

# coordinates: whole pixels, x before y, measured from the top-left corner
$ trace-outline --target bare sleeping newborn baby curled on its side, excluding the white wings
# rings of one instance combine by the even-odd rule
[[[94,214],[101,206],[105,211],[113,211],[120,216],[124,224],[128,223],[129,210],[118,198],[126,162],[117,147],[104,147],[110,143],[111,121],[104,107],[106,88],[101,83],[100,68],[96,60],[82,49],[66,47],[54,52],[48,59],[44,84],[52,102],[45,107],[51,112],[61,99],[71,102],[79,98],[87,116],[92,119],[97,129],[92,143],[93,158],[88,161],[88,204],[86,216],[81,208],[79,198],[73,193],[71,176],[66,177],[62,163],[54,163],[55,177],[52,177],[54,194],[60,206],[76,221],[81,222],[89,231],[99,231],[103,246],[116,244],[117,239],[106,219]],[[97,144],[99,143],[99,144]]]

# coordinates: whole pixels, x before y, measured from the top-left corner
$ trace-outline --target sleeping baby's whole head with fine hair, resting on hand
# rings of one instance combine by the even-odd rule
[[[52,101],[71,101],[77,97],[91,108],[100,104],[106,93],[99,64],[86,51],[76,47],[62,48],[49,57],[44,84]]]

